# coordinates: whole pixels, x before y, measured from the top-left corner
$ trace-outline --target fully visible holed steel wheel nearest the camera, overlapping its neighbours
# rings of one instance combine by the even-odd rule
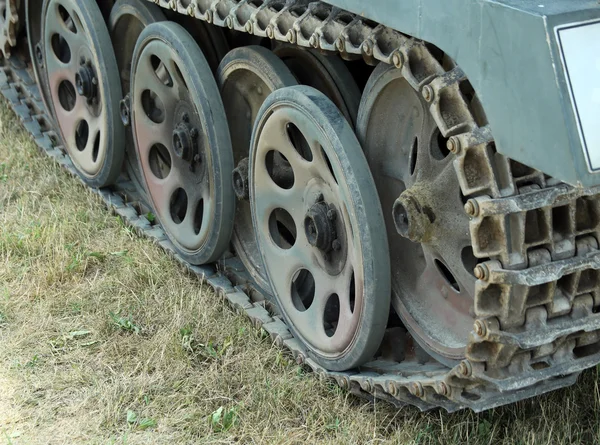
[[[282,96],[287,90],[316,92],[303,88],[286,88]],[[257,240],[282,312],[310,350],[331,366],[356,346],[369,305],[378,304],[367,301],[372,296],[365,283],[374,276],[363,263],[366,226],[359,222],[361,203],[349,185],[365,174],[361,167],[367,174],[368,168],[364,158],[364,165],[356,162],[360,158],[339,158],[340,147],[310,111],[291,100],[273,102],[263,107],[252,146]],[[336,111],[343,120],[333,103],[323,105],[328,105],[325,113]],[[356,146],[359,151],[357,141]],[[369,216],[367,226],[377,224],[380,215]],[[387,310],[389,300],[382,301]]]

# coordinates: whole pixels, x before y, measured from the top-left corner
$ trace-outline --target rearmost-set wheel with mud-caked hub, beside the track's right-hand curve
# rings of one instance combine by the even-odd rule
[[[473,326],[477,259],[446,140],[421,95],[387,66],[365,88],[358,134],[384,211],[394,307],[428,350],[459,360]]]

